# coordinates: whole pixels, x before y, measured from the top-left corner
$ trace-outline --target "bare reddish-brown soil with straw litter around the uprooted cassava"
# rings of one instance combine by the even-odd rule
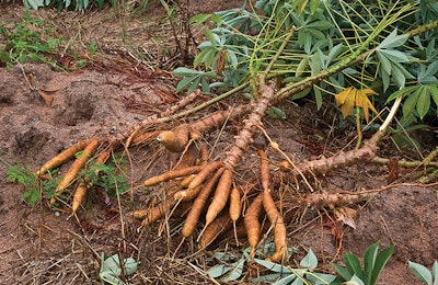
[[[240,5],[240,1],[218,0],[203,5],[191,4],[188,11],[195,14]],[[21,19],[22,13],[20,5],[3,4],[0,20]],[[150,1],[146,11],[135,15],[122,8],[83,13],[39,10],[32,11],[32,15],[50,19],[48,22],[54,25],[64,23],[66,38],[77,32],[72,29],[74,25],[80,26],[77,41],[89,43],[95,38],[101,53],[87,67],[69,72],[57,71],[48,64],[0,68],[0,158],[3,162],[22,163],[36,170],[80,139],[124,134],[130,126],[164,112],[184,96],[175,94],[177,80],[165,70],[166,67],[171,69],[183,64],[183,58],[172,53],[176,46],[170,26],[163,20],[165,12],[158,1]],[[178,35],[183,33],[178,32]],[[195,33],[195,36],[199,35]],[[193,53],[195,46],[196,43],[192,43],[187,54]],[[155,60],[157,64],[158,47],[171,50],[161,58],[161,69],[157,65],[151,68],[139,59],[138,55],[149,52],[150,62]],[[80,53],[80,45],[72,48],[78,48]],[[127,50],[137,50],[138,54]],[[71,64],[65,58],[58,59]],[[51,105],[42,102],[24,75],[33,75],[37,79],[38,88],[54,98]],[[199,100],[205,99],[197,99],[193,105]],[[222,104],[239,102],[233,99]],[[198,116],[220,107],[210,107]],[[290,103],[284,107],[288,117],[286,121],[265,122],[267,134],[295,161],[333,155],[355,135],[354,129],[332,132],[336,113],[330,107],[319,112],[313,109],[312,102],[301,102],[300,105]],[[215,146],[212,158],[223,158],[223,149],[232,144],[238,125],[239,122],[229,122],[223,129],[204,135],[204,141]],[[429,133],[423,133],[420,137],[427,140],[430,148],[438,141]],[[256,142],[265,144],[263,140],[256,138]],[[381,156],[418,156],[412,151],[397,152],[388,139],[381,147]],[[427,146],[423,151],[427,153]],[[273,161],[280,160],[273,152],[268,155]],[[150,144],[134,148],[129,159],[127,176],[129,183],[138,185],[145,178],[169,169],[174,157],[157,144]],[[252,156],[249,155],[242,163],[244,166],[240,167],[242,179],[256,173],[257,164],[251,161]],[[25,204],[23,187],[7,180],[8,168],[8,164],[0,163],[1,284],[99,284],[103,252],[107,255],[119,252],[139,261],[138,272],[129,278],[134,284],[211,282],[205,271],[216,262],[211,251],[197,251],[196,239],[182,242],[182,248],[174,255],[181,241],[181,219],[170,219],[169,223],[138,230],[139,223],[128,217],[128,212],[148,207],[148,202],[157,198],[153,193],[134,189],[117,200],[96,190],[88,196],[87,205],[78,217],[70,217],[67,205],[53,207],[45,201],[33,207]],[[64,173],[67,168],[61,167],[60,172]],[[383,166],[359,162],[319,178],[316,191],[378,189],[387,184],[387,175],[388,169]],[[410,273],[407,261],[430,269],[438,259],[438,186],[404,184],[350,207],[357,210],[354,219],[356,228],[346,225],[342,228],[339,252],[336,248],[339,240],[331,235],[333,227],[323,210],[309,209],[304,218],[320,219],[299,230],[296,224],[290,223],[288,230],[293,233],[288,236],[288,242],[299,249],[290,264],[299,261],[306,250],[312,249],[320,259],[321,269],[331,271],[330,261],[341,262],[345,252],[362,256],[367,247],[379,241],[381,247],[396,244],[396,248],[378,284],[420,284]],[[239,254],[241,248],[235,244],[232,231],[227,235],[210,250],[228,249]],[[244,282],[250,281],[244,278]]]

